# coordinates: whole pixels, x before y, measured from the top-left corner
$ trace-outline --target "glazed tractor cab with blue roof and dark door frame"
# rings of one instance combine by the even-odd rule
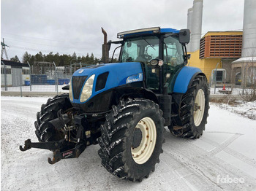
[[[121,32],[117,37],[123,39],[119,62],[140,62],[147,89],[163,93],[167,87],[167,93],[172,93],[172,80],[187,63],[189,30],[154,27]]]

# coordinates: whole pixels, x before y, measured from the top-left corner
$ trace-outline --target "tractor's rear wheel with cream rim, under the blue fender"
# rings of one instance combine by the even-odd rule
[[[198,139],[206,129],[209,109],[209,90],[207,79],[197,76],[181,98],[180,117],[183,128],[169,127],[174,136]]]

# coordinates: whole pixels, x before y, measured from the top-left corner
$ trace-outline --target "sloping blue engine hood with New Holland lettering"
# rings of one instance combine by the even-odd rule
[[[97,92],[95,92],[97,77],[99,76],[99,74],[102,74],[105,72],[109,72],[106,85],[102,90],[98,90]],[[135,62],[107,63],[107,64],[103,63],[103,64],[99,64],[99,67],[97,68],[90,68],[89,66],[83,69],[78,69],[77,71],[75,71],[73,76],[75,77],[88,76],[87,79],[89,79],[89,77],[91,77],[91,75],[93,74],[95,74],[95,77],[94,77],[94,85],[93,85],[91,97],[83,103],[86,103],[95,95],[102,93],[106,90],[109,90],[113,87],[118,87],[131,82],[143,81],[143,71],[142,71],[141,65],[140,63],[135,63]],[[85,85],[85,83],[86,82],[84,82],[83,86]],[[83,87],[82,87],[82,90],[83,90]],[[79,98],[80,98],[80,95],[79,95]],[[80,102],[79,99],[74,99],[72,103],[83,104]]]

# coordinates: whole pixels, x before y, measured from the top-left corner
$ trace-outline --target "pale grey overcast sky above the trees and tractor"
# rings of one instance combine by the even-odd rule
[[[187,28],[193,0],[1,0],[1,40],[9,59],[25,51],[101,57],[103,36],[137,28]],[[243,28],[244,0],[204,0],[202,35]],[[4,57],[5,58],[5,57]]]

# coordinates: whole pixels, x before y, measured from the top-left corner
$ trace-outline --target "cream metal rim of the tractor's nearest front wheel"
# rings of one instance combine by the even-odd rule
[[[135,127],[142,133],[140,145],[136,148],[131,147],[132,158],[135,163],[143,164],[151,157],[157,140],[157,130],[154,121],[150,117],[144,117]],[[132,135],[133,136],[133,135]]]

